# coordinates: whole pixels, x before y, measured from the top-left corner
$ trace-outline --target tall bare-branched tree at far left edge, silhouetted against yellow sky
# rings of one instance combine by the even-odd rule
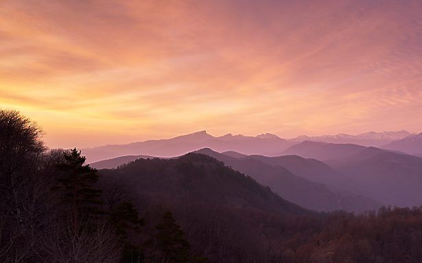
[[[14,110],[0,110],[0,262],[30,260],[43,221],[42,130]]]

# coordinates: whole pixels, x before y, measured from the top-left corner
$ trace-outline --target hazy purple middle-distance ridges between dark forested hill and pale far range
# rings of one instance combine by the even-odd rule
[[[305,141],[268,157],[235,151],[198,152],[270,186],[281,197],[317,211],[362,211],[380,204],[422,204],[422,158],[353,144]],[[142,156],[93,163],[111,168]],[[352,201],[351,201],[352,200]]]

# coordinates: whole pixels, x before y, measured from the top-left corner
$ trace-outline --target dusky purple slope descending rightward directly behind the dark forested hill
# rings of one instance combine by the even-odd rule
[[[227,166],[255,178],[259,183],[268,185],[281,197],[305,208],[317,211],[347,210],[364,211],[373,210],[380,206],[379,203],[352,195],[340,190],[331,190],[324,184],[309,181],[291,173],[288,169],[279,165],[266,164],[261,160],[255,160],[252,155],[246,158],[232,158],[211,149],[200,149],[198,153],[204,153],[216,158]],[[262,156],[265,158],[265,156]],[[324,165],[327,168],[327,165]]]

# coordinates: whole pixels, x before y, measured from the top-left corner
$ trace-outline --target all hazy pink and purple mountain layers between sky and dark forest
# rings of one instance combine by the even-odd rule
[[[368,133],[360,138],[390,140],[406,133]],[[213,156],[304,208],[363,211],[381,204],[422,204],[422,158],[417,157],[421,137],[406,136],[379,149],[310,140],[292,145],[273,134],[214,137],[202,131],[82,152],[93,167],[100,169],[151,156],[174,158],[200,149],[199,153]]]

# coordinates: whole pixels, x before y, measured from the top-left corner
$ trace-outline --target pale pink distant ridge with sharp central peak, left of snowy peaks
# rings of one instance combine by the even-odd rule
[[[132,142],[128,145],[106,145],[91,149],[82,149],[88,162],[97,162],[124,155],[152,155],[159,157],[173,157],[196,151],[204,147],[211,147],[217,151],[237,151],[246,154],[272,154],[293,145],[274,134],[259,136],[243,136],[226,134],[215,137],[207,132],[195,132],[170,139],[147,140]]]

